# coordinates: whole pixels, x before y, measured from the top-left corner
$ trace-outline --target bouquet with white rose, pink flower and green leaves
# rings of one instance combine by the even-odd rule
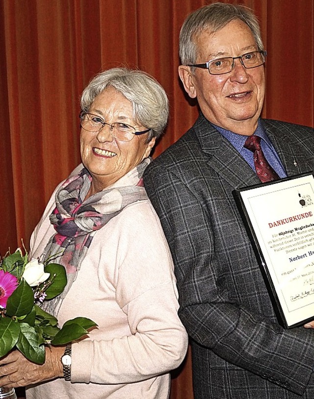
[[[40,304],[61,294],[67,283],[62,265],[28,261],[19,248],[0,259],[0,357],[20,350],[37,364],[45,362],[45,345],[64,345],[77,340],[96,324],[77,317],[62,328]]]

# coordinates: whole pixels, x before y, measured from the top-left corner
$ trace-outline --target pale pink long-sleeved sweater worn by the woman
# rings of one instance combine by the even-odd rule
[[[31,238],[40,257],[54,229],[54,195]],[[149,200],[127,206],[96,231],[58,321],[77,316],[98,328],[72,345],[71,382],[26,389],[27,399],[166,399],[187,334],[178,318],[171,254]],[[161,374],[161,375],[160,375]]]

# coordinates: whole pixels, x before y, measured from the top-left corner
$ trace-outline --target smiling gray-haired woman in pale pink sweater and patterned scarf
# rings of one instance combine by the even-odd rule
[[[84,316],[98,327],[66,348],[47,348],[42,366],[10,353],[1,385],[27,386],[27,399],[168,398],[187,336],[171,254],[142,179],[168,100],[151,76],[116,68],[89,83],[81,108],[82,164],[53,193],[31,256],[55,256],[66,268],[64,292],[47,302],[59,324]]]

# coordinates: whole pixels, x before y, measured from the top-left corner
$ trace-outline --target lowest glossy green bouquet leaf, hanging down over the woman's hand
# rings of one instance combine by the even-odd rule
[[[17,349],[31,362],[43,364],[45,362],[45,346],[42,338],[37,334],[34,327],[21,323],[21,332],[16,344]]]

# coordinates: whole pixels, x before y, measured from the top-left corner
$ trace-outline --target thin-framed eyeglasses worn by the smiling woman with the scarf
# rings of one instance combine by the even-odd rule
[[[133,126],[124,124],[122,122],[113,122],[112,124],[108,124],[100,116],[83,111],[80,112],[79,119],[81,127],[90,132],[98,132],[105,125],[108,125],[112,136],[119,141],[131,141],[134,135],[138,136],[151,130],[146,129],[137,132]]]

